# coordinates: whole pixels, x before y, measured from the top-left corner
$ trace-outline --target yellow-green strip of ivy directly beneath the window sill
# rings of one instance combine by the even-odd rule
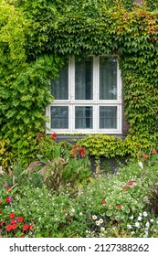
[[[157,137],[152,136],[144,131],[144,133],[128,134],[124,140],[121,137],[107,134],[88,134],[79,140],[90,156],[96,159],[100,157],[127,157],[137,158],[140,150],[147,152],[151,148],[158,147]]]

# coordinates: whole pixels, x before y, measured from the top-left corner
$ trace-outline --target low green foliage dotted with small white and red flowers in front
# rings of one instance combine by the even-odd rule
[[[112,176],[97,176],[76,197],[68,190],[57,194],[38,184],[34,172],[20,177],[20,165],[14,166],[12,174],[0,175],[2,237],[156,238],[157,157],[155,150],[148,155],[140,153],[139,163],[130,160]],[[13,176],[23,182],[12,186]],[[10,213],[23,220],[7,230],[14,219]],[[25,231],[24,224],[31,229]]]

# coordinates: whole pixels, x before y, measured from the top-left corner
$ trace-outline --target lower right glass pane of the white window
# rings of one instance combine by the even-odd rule
[[[100,129],[117,128],[117,107],[100,107]]]

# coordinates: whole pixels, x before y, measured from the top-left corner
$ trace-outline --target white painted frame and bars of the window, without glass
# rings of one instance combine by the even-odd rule
[[[113,56],[116,58],[116,56]],[[51,122],[46,124],[47,133],[122,133],[122,81],[121,70],[117,60],[117,99],[116,100],[100,100],[100,57],[93,57],[93,100],[75,100],[75,58],[68,59],[68,100],[54,100],[46,109],[48,119],[51,118],[51,106],[68,106],[68,129],[51,129]],[[97,86],[95,86],[95,84]],[[75,106],[92,106],[93,107],[93,125],[92,129],[75,129]],[[100,129],[100,106],[116,106],[117,107],[117,128],[116,129]]]

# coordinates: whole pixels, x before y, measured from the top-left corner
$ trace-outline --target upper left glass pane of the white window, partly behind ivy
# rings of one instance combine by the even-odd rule
[[[51,81],[51,93],[55,100],[68,100],[68,67],[60,69],[58,79]]]

